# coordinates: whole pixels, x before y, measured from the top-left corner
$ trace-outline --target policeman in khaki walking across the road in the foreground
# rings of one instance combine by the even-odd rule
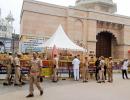
[[[29,95],[27,95],[26,97],[33,97],[34,94],[34,88],[33,88],[33,84],[36,85],[36,87],[38,88],[38,90],[40,91],[40,95],[43,95],[43,90],[40,86],[40,82],[39,82],[39,76],[40,76],[40,67],[42,66],[42,61],[40,58],[37,57],[37,53],[33,53],[33,58],[30,62],[31,67],[30,67],[30,79],[29,79]]]

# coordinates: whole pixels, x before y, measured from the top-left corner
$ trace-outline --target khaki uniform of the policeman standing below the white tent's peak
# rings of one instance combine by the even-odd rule
[[[58,81],[58,68],[59,68],[58,58],[55,57],[55,58],[53,59],[53,75],[52,75],[52,81]]]

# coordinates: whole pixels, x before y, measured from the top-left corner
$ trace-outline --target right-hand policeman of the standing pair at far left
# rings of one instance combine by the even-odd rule
[[[21,53],[17,53],[17,56],[14,58],[15,64],[15,86],[21,86],[20,77],[21,77],[21,68],[20,68],[20,57]]]

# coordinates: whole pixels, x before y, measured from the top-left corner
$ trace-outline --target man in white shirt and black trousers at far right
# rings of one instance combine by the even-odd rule
[[[129,61],[125,59],[122,65],[122,78],[125,79],[124,75],[128,79],[127,70],[128,70]]]

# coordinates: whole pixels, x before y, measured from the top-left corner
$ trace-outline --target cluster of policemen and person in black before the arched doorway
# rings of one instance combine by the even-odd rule
[[[98,83],[105,82],[106,73],[108,74],[108,82],[113,82],[113,60],[112,57],[109,57],[108,61],[105,62],[105,58],[101,56],[96,61],[96,80]]]

